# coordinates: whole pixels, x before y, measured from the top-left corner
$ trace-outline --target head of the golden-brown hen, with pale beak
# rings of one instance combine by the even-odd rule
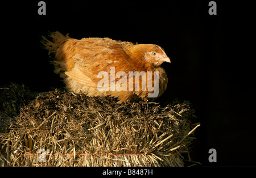
[[[171,62],[164,50],[158,45],[137,44],[135,46],[142,53],[144,60],[153,66],[160,66],[163,62]]]

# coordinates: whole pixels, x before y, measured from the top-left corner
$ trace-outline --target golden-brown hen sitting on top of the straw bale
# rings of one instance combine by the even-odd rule
[[[81,91],[88,96],[113,96],[119,99],[119,103],[138,98],[148,99],[148,95],[153,94],[155,90],[154,88],[149,91],[148,83],[156,87],[154,77],[157,77],[157,74],[159,90],[157,96],[152,99],[158,98],[167,88],[167,75],[160,64],[164,61],[170,62],[170,59],[158,45],[133,44],[97,37],[76,40],[60,32],[53,32],[49,36],[53,41],[44,38],[43,43],[50,53],[56,54],[55,73],[64,78],[69,91]],[[129,71],[138,71],[142,75],[139,80],[134,79],[130,86],[129,79],[133,76],[129,76]],[[149,71],[152,72],[151,78],[147,77]],[[99,75],[101,72],[107,73],[108,76],[105,77],[108,78]],[[105,88],[105,91],[102,91],[99,90],[99,83],[106,82],[104,79],[108,80],[109,87],[108,90]],[[113,84],[114,89],[111,88]],[[117,89],[118,86],[122,88],[121,91]]]

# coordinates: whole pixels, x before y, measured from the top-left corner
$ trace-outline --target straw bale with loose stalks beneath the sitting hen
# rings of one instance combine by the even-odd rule
[[[188,102],[116,102],[60,90],[39,94],[18,116],[1,119],[1,166],[184,166],[181,154],[199,126],[191,124]]]

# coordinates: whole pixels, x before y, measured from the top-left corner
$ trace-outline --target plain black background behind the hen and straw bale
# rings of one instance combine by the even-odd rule
[[[247,24],[253,21],[241,11],[250,5],[216,1],[217,15],[209,15],[209,1],[45,1],[46,15],[38,15],[38,2],[1,5],[1,86],[23,83],[42,92],[64,86],[40,43],[48,31],[157,44],[171,59],[162,65],[169,82],[159,101],[189,100],[197,116],[192,122],[201,123],[191,159],[203,166],[256,166],[255,57],[244,41],[252,37]],[[212,148],[217,163],[208,161]]]

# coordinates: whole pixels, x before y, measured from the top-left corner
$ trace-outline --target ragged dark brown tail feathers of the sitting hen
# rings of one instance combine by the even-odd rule
[[[52,32],[48,36],[52,38],[52,41],[48,40],[45,36],[42,36],[43,39],[41,40],[41,43],[45,46],[47,50],[49,50],[49,53],[56,53],[60,45],[65,43],[65,41],[67,41],[68,39],[71,39],[68,34],[64,36],[58,31]]]

